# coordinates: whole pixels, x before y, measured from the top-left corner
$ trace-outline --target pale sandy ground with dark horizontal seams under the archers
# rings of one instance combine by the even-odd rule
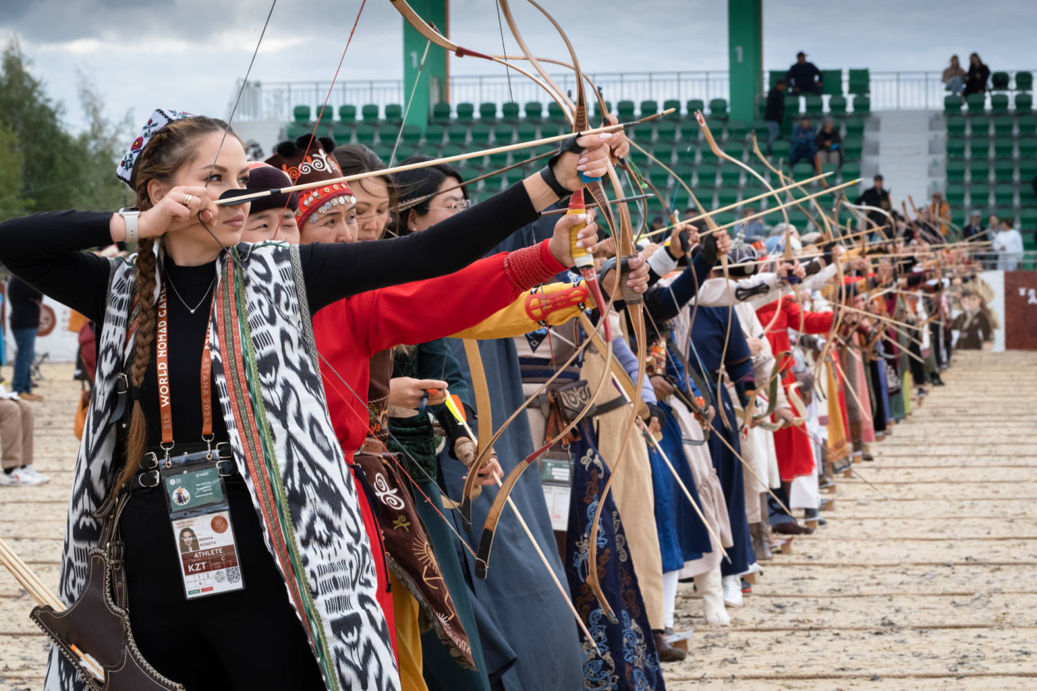
[[[54,481],[0,488],[0,537],[56,588],[79,387],[71,366],[45,375],[36,467]],[[764,565],[730,628],[681,585],[695,635],[670,691],[1037,689],[1037,353],[963,354],[944,378],[856,466],[873,487],[840,477],[828,526]],[[0,572],[0,691],[43,686],[32,604]]]

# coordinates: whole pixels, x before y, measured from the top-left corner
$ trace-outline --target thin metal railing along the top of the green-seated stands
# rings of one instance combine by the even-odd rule
[[[1035,70],[1029,70],[1031,73]],[[1015,84],[1015,73],[1009,71],[1010,84]],[[643,71],[643,73],[596,73],[591,80],[601,89],[605,98],[613,104],[619,100],[676,99],[684,104],[698,98],[708,105],[712,98],[727,98],[729,76],[727,71]],[[764,71],[764,79],[767,73]],[[944,96],[948,95],[941,82],[942,71],[872,71],[871,110],[940,110]],[[574,89],[571,73],[553,75],[553,79],[565,90]],[[848,90],[848,73],[843,73],[843,92]],[[234,87],[236,95],[241,82]],[[329,88],[331,93],[329,94]],[[340,81],[334,87],[330,82],[258,82],[252,81],[245,87],[242,103],[235,117],[243,120],[276,119],[290,120],[296,106],[309,106],[313,117],[328,97],[331,113],[325,119],[337,119],[338,108],[342,105],[360,106],[374,104],[380,112],[390,104],[405,103],[401,80]],[[989,96],[988,96],[989,98]],[[457,103],[495,103],[509,100],[524,105],[530,100],[540,102],[544,108],[548,95],[522,75],[503,71],[498,75],[457,75],[450,78],[450,100]],[[825,96],[825,103],[828,96]],[[229,111],[229,108],[228,108]]]

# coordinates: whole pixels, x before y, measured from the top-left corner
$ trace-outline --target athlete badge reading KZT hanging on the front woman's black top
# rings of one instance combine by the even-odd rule
[[[200,452],[160,468],[188,600],[245,587],[218,463],[216,454]]]

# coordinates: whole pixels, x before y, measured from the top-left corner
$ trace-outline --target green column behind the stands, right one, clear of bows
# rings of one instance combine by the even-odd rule
[[[762,0],[727,0],[731,117],[752,122],[763,90]]]

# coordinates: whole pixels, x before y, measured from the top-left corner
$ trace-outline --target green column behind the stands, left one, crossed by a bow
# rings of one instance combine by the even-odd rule
[[[437,30],[445,36],[450,35],[449,25],[449,0],[412,0],[411,6],[425,20],[431,22]],[[421,66],[421,56],[425,54],[425,46],[428,40],[418,33],[418,30],[403,21],[403,103],[400,104],[407,111],[407,102],[411,97],[411,89],[414,88],[414,80],[418,79],[418,68]],[[414,99],[411,103],[411,110],[407,113],[403,124],[416,124],[421,127],[422,134],[425,125],[432,116],[432,106],[441,102],[450,100],[450,74],[447,53],[439,46],[430,46],[428,55],[425,57],[424,66],[421,67],[418,88],[414,91]]]

